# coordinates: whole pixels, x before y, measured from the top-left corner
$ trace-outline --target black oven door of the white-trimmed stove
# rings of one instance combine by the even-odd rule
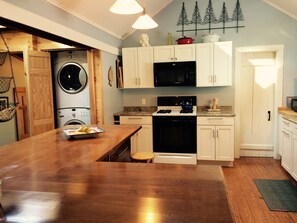
[[[153,116],[155,153],[196,154],[196,116]]]

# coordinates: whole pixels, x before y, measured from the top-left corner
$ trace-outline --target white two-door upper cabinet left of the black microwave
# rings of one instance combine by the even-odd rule
[[[153,88],[153,47],[123,48],[124,88]]]

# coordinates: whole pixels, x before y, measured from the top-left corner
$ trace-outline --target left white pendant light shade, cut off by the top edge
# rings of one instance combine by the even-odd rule
[[[115,14],[136,14],[143,11],[143,8],[135,0],[117,0],[109,9]]]

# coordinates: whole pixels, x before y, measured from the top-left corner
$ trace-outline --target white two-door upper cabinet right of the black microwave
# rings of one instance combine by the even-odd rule
[[[232,42],[196,44],[197,87],[232,85]]]

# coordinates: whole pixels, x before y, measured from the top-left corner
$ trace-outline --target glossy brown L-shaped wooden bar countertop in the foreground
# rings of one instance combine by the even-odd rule
[[[56,129],[0,147],[5,222],[233,222],[219,166],[96,162],[141,128],[101,127],[92,139]]]

